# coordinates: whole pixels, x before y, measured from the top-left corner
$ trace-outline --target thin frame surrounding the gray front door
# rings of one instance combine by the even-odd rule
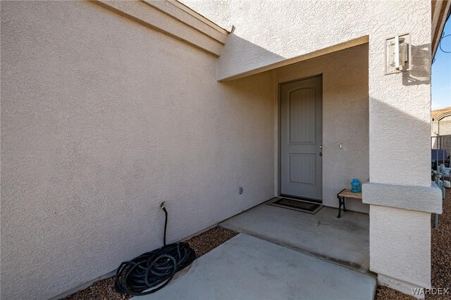
[[[297,82],[297,81],[302,81],[302,80],[307,80],[307,79],[311,79],[311,78],[315,78],[315,77],[323,77],[323,73],[318,73],[315,75],[310,75],[307,77],[301,77],[301,78],[297,78],[294,80],[288,80],[288,81],[284,81],[284,82],[277,82],[277,113],[276,113],[276,118],[277,118],[277,195],[278,197],[282,196],[281,194],[281,189],[282,189],[282,179],[281,179],[281,172],[282,172],[282,156],[281,156],[281,152],[282,152],[282,109],[281,109],[281,105],[282,105],[282,91],[281,91],[281,87],[282,85],[285,85],[287,83],[292,83],[292,82]],[[321,101],[323,101],[324,99],[324,89],[323,89],[323,83],[324,81],[321,80]],[[323,105],[321,106],[323,109]],[[321,126],[321,137],[324,137],[323,133],[324,133],[324,118],[321,118],[321,123],[323,124],[323,126]],[[324,139],[323,139],[323,144],[324,144]],[[322,164],[322,168],[324,170],[324,163]],[[321,180],[323,182],[323,189],[324,189],[324,172],[323,170],[321,170]],[[288,198],[292,198],[292,199],[296,199],[295,196],[289,196]],[[303,200],[308,200],[314,203],[319,203],[322,204],[323,201],[321,199],[321,201],[316,200],[316,199],[307,199],[307,198],[302,198],[299,197],[299,199],[303,199]]]

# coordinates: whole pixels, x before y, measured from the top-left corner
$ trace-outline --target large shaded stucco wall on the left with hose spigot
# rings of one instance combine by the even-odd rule
[[[88,2],[1,1],[1,299],[161,246],[161,201],[173,242],[273,196],[271,74],[218,83],[216,59]]]

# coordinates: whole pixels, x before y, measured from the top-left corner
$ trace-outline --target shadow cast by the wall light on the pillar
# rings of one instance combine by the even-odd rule
[[[402,73],[402,85],[431,84],[431,44],[412,45],[412,70]]]

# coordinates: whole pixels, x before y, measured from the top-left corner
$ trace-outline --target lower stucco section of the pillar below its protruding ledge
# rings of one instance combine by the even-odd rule
[[[431,214],[371,205],[369,216],[371,270],[431,287]]]

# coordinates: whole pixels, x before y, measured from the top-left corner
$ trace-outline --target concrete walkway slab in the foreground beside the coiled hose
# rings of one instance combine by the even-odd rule
[[[160,291],[138,299],[372,300],[375,291],[370,275],[240,234]]]

